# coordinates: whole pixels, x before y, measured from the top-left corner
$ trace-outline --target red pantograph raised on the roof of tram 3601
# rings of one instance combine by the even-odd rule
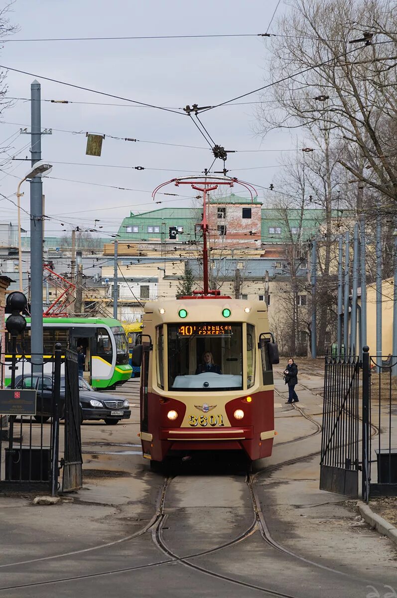
[[[222,148],[224,149],[224,148]],[[235,177],[230,176],[208,176],[207,169],[205,169],[204,176],[185,176],[182,178],[170,179],[158,185],[152,193],[152,199],[155,199],[156,194],[161,188],[169,185],[170,183],[175,184],[175,187],[179,185],[190,185],[192,189],[200,191],[203,194],[203,219],[200,222],[201,230],[203,231],[203,294],[212,294],[208,288],[208,248],[207,248],[207,233],[209,232],[209,224],[207,221],[207,193],[209,191],[215,191],[219,185],[225,185],[226,187],[234,187],[234,185],[242,185],[251,195],[251,201],[254,201],[258,193],[253,185],[246,181],[240,181]]]

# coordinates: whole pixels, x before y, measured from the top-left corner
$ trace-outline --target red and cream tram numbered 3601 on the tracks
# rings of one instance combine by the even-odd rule
[[[142,367],[143,456],[270,456],[279,359],[264,302],[211,295],[149,302],[142,324],[133,361]]]

